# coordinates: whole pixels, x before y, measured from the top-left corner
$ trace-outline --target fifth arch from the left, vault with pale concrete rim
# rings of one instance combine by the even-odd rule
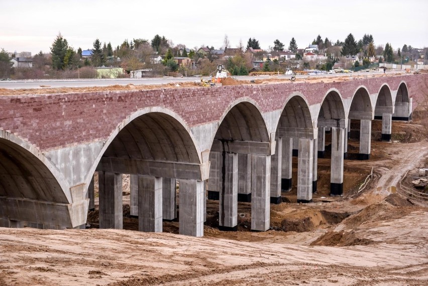
[[[325,119],[345,119],[345,107],[342,96],[336,88],[331,88],[326,92],[323,102],[318,112],[317,118]]]

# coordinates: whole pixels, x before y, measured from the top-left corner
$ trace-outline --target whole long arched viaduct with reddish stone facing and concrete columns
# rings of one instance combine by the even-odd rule
[[[389,140],[391,120],[411,117],[427,80],[0,96],[0,226],[79,228],[97,171],[100,228],[123,226],[126,173],[140,231],[176,218],[175,179],[180,234],[203,235],[206,194],[220,200],[221,228],[236,229],[237,202],[251,200],[251,228],[265,231],[270,203],[290,189],[293,153],[298,200],[310,202],[330,129],[331,195],[340,196],[349,120],[361,121],[359,156],[368,159],[371,121],[382,119]]]

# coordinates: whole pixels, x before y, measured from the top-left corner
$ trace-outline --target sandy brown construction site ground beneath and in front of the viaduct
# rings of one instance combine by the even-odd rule
[[[97,229],[97,206],[88,213],[86,230],[0,228],[0,286],[426,285],[428,201],[387,190],[407,170],[403,184],[411,188],[418,169],[428,167],[426,126],[418,118],[394,121],[391,142],[381,142],[381,121],[373,121],[366,161],[356,159],[358,128],[352,121],[344,197],[329,196],[327,136],[313,202],[297,204],[293,185],[282,194],[283,203],[271,204],[269,231],[250,231],[250,203],[238,204],[237,232],[220,231],[219,202],[208,200],[201,238],[179,235],[178,222],[165,221],[163,233],[138,232],[124,175],[124,230]],[[178,189],[177,195],[179,201]]]

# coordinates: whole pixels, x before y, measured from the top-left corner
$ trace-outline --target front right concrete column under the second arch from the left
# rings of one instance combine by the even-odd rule
[[[203,236],[204,184],[204,181],[180,179],[180,234]]]

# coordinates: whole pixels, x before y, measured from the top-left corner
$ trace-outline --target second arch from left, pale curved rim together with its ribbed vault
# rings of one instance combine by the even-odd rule
[[[141,109],[118,125],[91,166],[86,184],[103,156],[201,163],[201,153],[185,121],[161,107]]]

